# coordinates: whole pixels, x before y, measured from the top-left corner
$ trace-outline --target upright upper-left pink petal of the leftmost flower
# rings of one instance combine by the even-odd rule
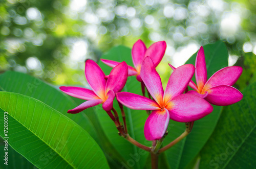
[[[99,65],[97,65],[93,60],[87,60],[85,73],[88,84],[91,86],[95,94],[97,94],[99,98],[104,99],[106,80],[105,74]]]

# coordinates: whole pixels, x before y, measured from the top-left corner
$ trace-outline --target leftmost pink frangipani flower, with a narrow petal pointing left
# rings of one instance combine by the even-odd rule
[[[92,90],[81,87],[65,87],[59,89],[75,98],[87,100],[76,108],[69,110],[68,113],[79,113],[89,107],[102,104],[105,111],[110,111],[113,107],[115,93],[120,92],[127,80],[128,68],[125,62],[115,66],[108,80],[105,80],[105,74],[93,60],[86,61],[86,79]]]

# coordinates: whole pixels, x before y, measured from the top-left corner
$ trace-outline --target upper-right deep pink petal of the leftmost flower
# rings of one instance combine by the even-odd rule
[[[116,67],[114,67],[106,81],[105,93],[109,90],[113,90],[115,93],[123,89],[128,77],[128,68],[125,62],[121,62]]]

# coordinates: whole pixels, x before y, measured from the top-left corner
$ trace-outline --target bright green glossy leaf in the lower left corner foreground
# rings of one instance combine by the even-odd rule
[[[8,112],[8,143],[35,166],[108,168],[98,144],[70,118],[29,96],[0,92],[0,98]],[[0,135],[5,137],[3,128]]]

